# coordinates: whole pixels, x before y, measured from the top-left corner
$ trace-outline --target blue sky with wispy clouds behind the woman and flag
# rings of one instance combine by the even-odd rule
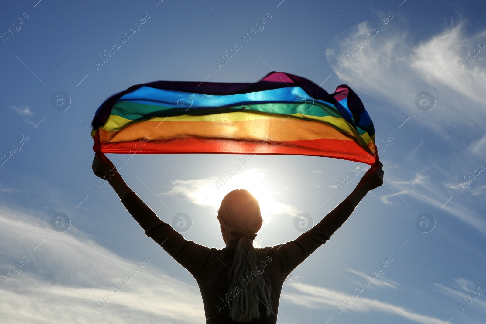
[[[330,93],[349,85],[373,119],[377,143],[393,138],[380,153],[385,184],[289,276],[278,323],[483,323],[484,12],[484,2],[451,0],[9,4],[0,13],[1,33],[11,33],[0,45],[0,154],[9,155],[0,167],[0,276],[15,274],[0,288],[2,318],[204,323],[194,278],[156,249],[112,188],[95,185],[91,119],[107,97],[131,85],[257,82],[275,70]],[[220,55],[267,13],[263,30],[218,68]],[[144,15],[139,30],[97,66],[99,55]],[[365,44],[368,33],[374,36]],[[344,65],[347,51],[355,54]],[[64,111],[51,104],[58,91],[69,95]],[[432,94],[429,111],[416,105],[422,91]],[[341,176],[358,163],[260,155],[216,190],[214,181],[238,157],[140,154],[120,172],[163,221],[182,212],[191,217],[186,239],[218,248],[225,244],[215,209],[233,188],[248,188],[260,199],[266,224],[256,243],[272,246],[300,234],[297,214],[319,222],[364,174],[339,188]],[[56,213],[69,216],[64,233],[51,226]],[[416,226],[421,213],[434,218],[428,233]],[[98,298],[144,257],[144,266],[97,312]],[[363,287],[360,280],[387,257],[393,261],[385,271],[340,309],[346,305],[341,298]],[[476,297],[467,304],[469,296]]]

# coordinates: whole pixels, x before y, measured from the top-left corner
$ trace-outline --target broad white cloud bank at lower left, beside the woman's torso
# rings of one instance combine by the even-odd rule
[[[34,318],[40,323],[82,323],[89,317],[86,323],[128,324],[148,323],[154,316],[162,323],[205,321],[199,290],[151,262],[139,267],[141,272],[96,312],[93,304],[138,260],[117,256],[73,227],[57,233],[29,215],[1,208],[0,246],[1,276],[22,256],[29,258],[0,288],[5,323],[36,323]],[[152,252],[146,254],[154,256]]]

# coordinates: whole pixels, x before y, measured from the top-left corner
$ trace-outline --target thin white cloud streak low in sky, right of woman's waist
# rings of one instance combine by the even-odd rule
[[[298,292],[289,293],[282,292],[282,299],[288,302],[294,303],[308,308],[327,308],[335,309],[338,311],[338,302],[341,302],[341,298],[347,297],[347,294],[338,290],[331,290],[325,287],[313,286],[309,284],[303,284],[300,282],[289,282],[288,286],[295,288]],[[431,316],[425,316],[414,313],[412,310],[404,307],[392,305],[390,303],[383,304],[381,300],[358,297],[350,300],[349,305],[342,309],[343,312],[370,312],[378,311],[399,317],[407,318],[411,321],[423,324],[444,324],[444,320],[439,320]]]

